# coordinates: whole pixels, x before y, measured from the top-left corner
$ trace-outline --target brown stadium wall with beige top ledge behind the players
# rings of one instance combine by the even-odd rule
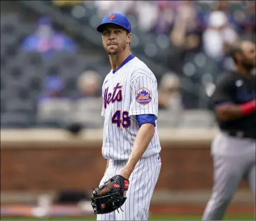
[[[211,190],[212,130],[160,130],[157,190]],[[103,176],[102,131],[1,130],[1,191],[88,190]],[[244,182],[240,188],[247,188]]]

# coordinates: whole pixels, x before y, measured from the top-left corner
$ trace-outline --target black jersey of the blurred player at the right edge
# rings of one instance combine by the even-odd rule
[[[251,100],[255,100],[255,76],[248,79],[237,72],[223,75],[222,79],[216,84],[215,92],[212,95],[215,107],[225,103],[243,104]],[[256,114],[252,113],[232,121],[218,120],[218,123],[220,129],[225,131],[255,133]]]

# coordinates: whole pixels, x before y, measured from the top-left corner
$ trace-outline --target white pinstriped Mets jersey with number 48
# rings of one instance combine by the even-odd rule
[[[102,86],[103,128],[102,155],[113,160],[127,160],[139,131],[136,115],[158,115],[157,80],[144,62],[134,57],[115,73],[110,71]],[[157,133],[142,157],[160,153]]]

